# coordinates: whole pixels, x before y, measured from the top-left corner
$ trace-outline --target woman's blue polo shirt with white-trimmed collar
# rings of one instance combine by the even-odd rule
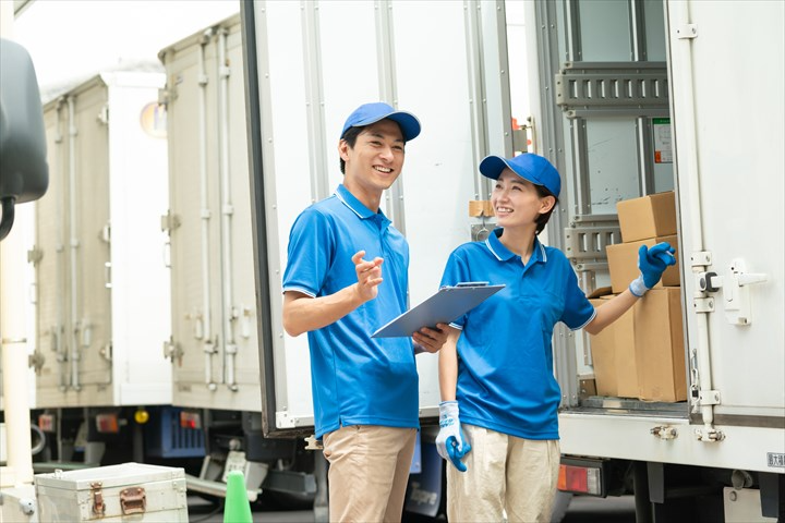
[[[580,329],[596,313],[560,251],[535,239],[523,265],[499,241],[502,231],[456,248],[442,278],[443,285],[506,284],[451,324],[462,329],[456,390],[460,419],[519,438],[558,439],[561,393],[553,374],[553,329],[558,321]]]

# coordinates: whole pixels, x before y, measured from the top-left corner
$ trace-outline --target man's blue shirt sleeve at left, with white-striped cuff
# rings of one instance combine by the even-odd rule
[[[334,257],[335,245],[328,217],[313,207],[302,211],[289,233],[283,292],[299,291],[312,297],[318,296]]]

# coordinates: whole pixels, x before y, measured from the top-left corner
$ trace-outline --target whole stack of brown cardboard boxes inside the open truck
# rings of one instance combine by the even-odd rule
[[[607,247],[614,294],[627,290],[640,273],[641,245],[668,242],[678,248],[673,192],[619,202],[617,210],[623,243]],[[600,396],[668,402],[687,399],[679,284],[677,263],[631,309],[592,337],[594,379]],[[613,297],[612,294],[591,301],[597,307]]]

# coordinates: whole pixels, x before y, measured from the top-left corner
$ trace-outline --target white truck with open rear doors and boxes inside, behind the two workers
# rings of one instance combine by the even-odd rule
[[[531,29],[526,52],[504,31],[505,12],[518,9]],[[683,253],[681,287],[665,292],[683,311],[669,340],[684,346],[673,368],[684,363],[674,376],[685,398],[593,393],[591,341],[556,331],[565,473],[596,487],[583,494],[635,484],[642,521],[782,514],[785,220],[776,151],[785,60],[765,36],[782,44],[782,3],[309,2],[300,10],[257,1],[243,14],[267,434],[313,422],[301,392],[306,342],[283,332],[280,277],[294,217],[340,182],[341,118],[358,100],[383,99],[423,120],[407,173],[383,207],[409,239],[418,303],[438,285],[450,250],[490,226],[464,210],[488,197],[478,160],[522,149],[512,145],[509,107],[521,96],[510,77],[526,60],[508,56],[524,52],[532,150],[556,165],[566,187],[548,243],[572,258],[587,293],[609,282],[606,247],[621,240],[617,202],[675,191]],[[345,59],[362,66],[336,64]],[[749,78],[761,74],[752,95]],[[433,361],[418,362],[424,423],[438,401]]]

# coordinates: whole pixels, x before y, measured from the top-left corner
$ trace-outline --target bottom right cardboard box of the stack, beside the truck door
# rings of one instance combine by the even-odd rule
[[[685,401],[687,373],[681,289],[652,289],[632,311],[640,399]]]

